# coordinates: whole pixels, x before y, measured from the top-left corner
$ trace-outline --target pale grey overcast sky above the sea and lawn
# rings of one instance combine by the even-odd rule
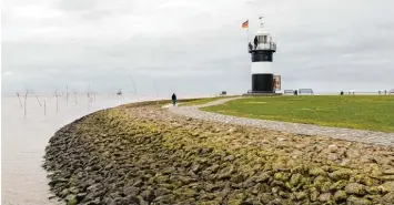
[[[393,0],[3,0],[2,91],[251,88],[264,16],[282,89],[394,89]]]

